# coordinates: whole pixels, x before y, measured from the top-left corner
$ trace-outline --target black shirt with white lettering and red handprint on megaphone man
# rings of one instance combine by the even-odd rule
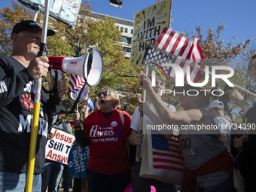
[[[26,67],[13,56],[0,56],[0,172],[26,172],[34,93],[35,81]],[[54,110],[54,99],[41,91],[35,173],[43,172],[48,120]]]

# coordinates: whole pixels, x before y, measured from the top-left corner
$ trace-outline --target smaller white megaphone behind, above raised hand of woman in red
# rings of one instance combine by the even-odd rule
[[[76,100],[78,98],[78,94],[80,93],[80,91],[81,89],[78,91],[78,93],[77,92],[70,93],[71,98]],[[84,87],[83,92],[81,93],[80,101],[83,102],[84,105],[88,105],[89,111],[91,112],[94,110],[94,105],[92,100],[89,98],[88,93],[89,93],[89,87],[86,85]]]

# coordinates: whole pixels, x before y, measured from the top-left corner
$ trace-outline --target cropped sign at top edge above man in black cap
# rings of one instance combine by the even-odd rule
[[[19,0],[22,5],[44,14],[45,0]],[[75,28],[81,0],[50,0],[49,16]]]

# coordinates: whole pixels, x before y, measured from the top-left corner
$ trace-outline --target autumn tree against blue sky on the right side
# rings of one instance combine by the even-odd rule
[[[206,60],[206,65],[211,68],[211,66],[231,66],[234,69],[234,75],[229,78],[230,82],[238,85],[239,87],[249,90],[251,93],[255,93],[254,81],[247,75],[248,58],[255,52],[251,48],[251,37],[248,37],[245,41],[239,41],[238,44],[235,43],[236,36],[231,37],[231,41],[224,43],[224,39],[221,37],[221,31],[223,31],[225,25],[220,23],[216,32],[213,32],[212,26],[207,30],[206,36],[201,33],[201,26],[197,26],[193,38],[197,37],[200,39],[200,48],[203,51],[204,59]],[[219,71],[218,74],[226,74],[229,72]],[[209,78],[209,84],[206,88],[210,90],[212,87],[210,85],[212,81]],[[219,88],[224,90],[226,84],[224,81],[218,81]],[[239,89],[238,89],[239,90]],[[256,98],[248,93],[239,90],[244,96],[248,103],[252,104]],[[224,96],[224,101],[227,102],[228,97]],[[242,120],[242,116],[239,114],[241,110],[236,103],[230,102],[233,107],[234,121],[237,123],[245,122]]]

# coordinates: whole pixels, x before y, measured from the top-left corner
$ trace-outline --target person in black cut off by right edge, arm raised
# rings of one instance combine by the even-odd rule
[[[247,69],[248,76],[256,82],[256,53],[251,56],[251,59],[248,62]],[[236,142],[236,148],[242,152],[239,154],[239,157],[236,157],[236,162],[242,160],[240,166],[236,166],[237,169],[240,169],[242,177],[244,178],[245,183],[245,192],[255,191],[255,181],[256,181],[256,105],[252,107],[245,101],[244,97],[239,93],[238,90],[228,90],[225,93],[230,95],[230,99],[236,102],[237,105],[242,108],[242,115],[247,119],[247,128],[248,128],[248,141]]]

